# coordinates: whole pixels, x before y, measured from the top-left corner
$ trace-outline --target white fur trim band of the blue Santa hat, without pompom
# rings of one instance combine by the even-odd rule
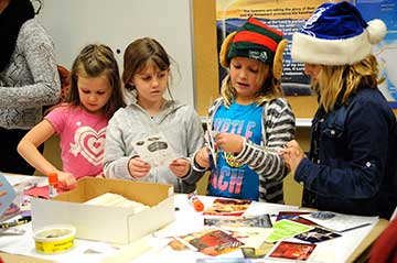
[[[320,65],[352,65],[371,54],[368,32],[344,40],[322,40],[300,32],[292,35],[293,61]]]

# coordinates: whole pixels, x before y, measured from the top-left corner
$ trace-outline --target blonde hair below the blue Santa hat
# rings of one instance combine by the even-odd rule
[[[348,103],[348,98],[361,86],[376,88],[384,79],[377,79],[378,68],[374,55],[369,55],[353,65],[321,65],[318,89],[321,94],[320,105],[326,112],[334,109],[336,102]]]

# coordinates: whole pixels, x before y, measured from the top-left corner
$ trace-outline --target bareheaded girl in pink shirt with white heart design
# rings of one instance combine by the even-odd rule
[[[64,189],[72,189],[83,176],[101,176],[106,127],[125,106],[117,62],[106,45],[84,47],[69,79],[65,103],[52,109],[18,145],[21,156],[40,173],[56,173]],[[62,169],[37,151],[55,133],[61,138]]]

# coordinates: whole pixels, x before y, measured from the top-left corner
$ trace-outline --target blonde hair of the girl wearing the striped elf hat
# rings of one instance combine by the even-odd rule
[[[266,64],[259,63],[256,83],[261,86],[261,88],[256,96],[255,102],[257,105],[262,105],[265,101],[282,97],[281,81],[275,77],[271,67],[269,68],[268,74],[266,74]],[[226,107],[229,107],[236,99],[237,94],[232,85],[230,74],[227,74],[222,81],[221,95],[224,98]]]

